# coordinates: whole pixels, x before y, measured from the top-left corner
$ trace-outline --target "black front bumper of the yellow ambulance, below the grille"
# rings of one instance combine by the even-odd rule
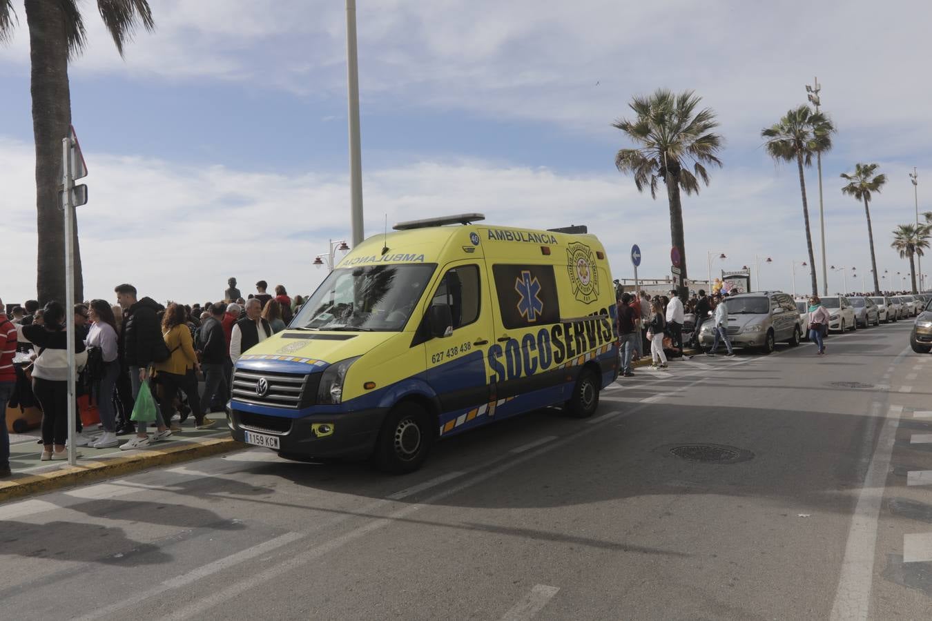
[[[276,408],[257,408],[236,401],[229,407],[233,439],[244,441],[244,430],[276,436],[280,454],[308,458],[369,456],[375,449],[378,432],[388,412],[388,408],[374,408],[356,412],[312,412],[290,418],[282,416]],[[330,425],[330,429],[322,431],[319,425]]]

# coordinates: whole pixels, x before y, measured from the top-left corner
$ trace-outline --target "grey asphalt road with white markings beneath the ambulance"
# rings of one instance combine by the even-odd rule
[[[588,421],[534,412],[407,477],[256,449],[0,506],[0,615],[929,619],[909,330],[639,370]]]

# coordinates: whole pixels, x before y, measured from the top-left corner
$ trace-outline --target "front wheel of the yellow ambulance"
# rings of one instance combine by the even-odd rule
[[[384,472],[414,472],[427,459],[432,442],[433,426],[427,410],[413,401],[399,403],[385,418],[373,461]]]

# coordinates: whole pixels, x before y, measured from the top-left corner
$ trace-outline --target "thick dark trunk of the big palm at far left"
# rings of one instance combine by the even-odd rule
[[[25,0],[25,7],[32,63],[38,236],[36,292],[42,304],[49,300],[67,303],[64,295],[64,223],[59,187],[62,185],[62,138],[68,135],[71,125],[68,42],[63,34],[64,16],[60,3]],[[75,224],[75,298],[81,300],[84,284],[76,231]]]

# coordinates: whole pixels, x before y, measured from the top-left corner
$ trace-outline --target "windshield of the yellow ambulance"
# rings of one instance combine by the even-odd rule
[[[336,269],[289,326],[293,330],[404,330],[431,279],[434,264]]]

